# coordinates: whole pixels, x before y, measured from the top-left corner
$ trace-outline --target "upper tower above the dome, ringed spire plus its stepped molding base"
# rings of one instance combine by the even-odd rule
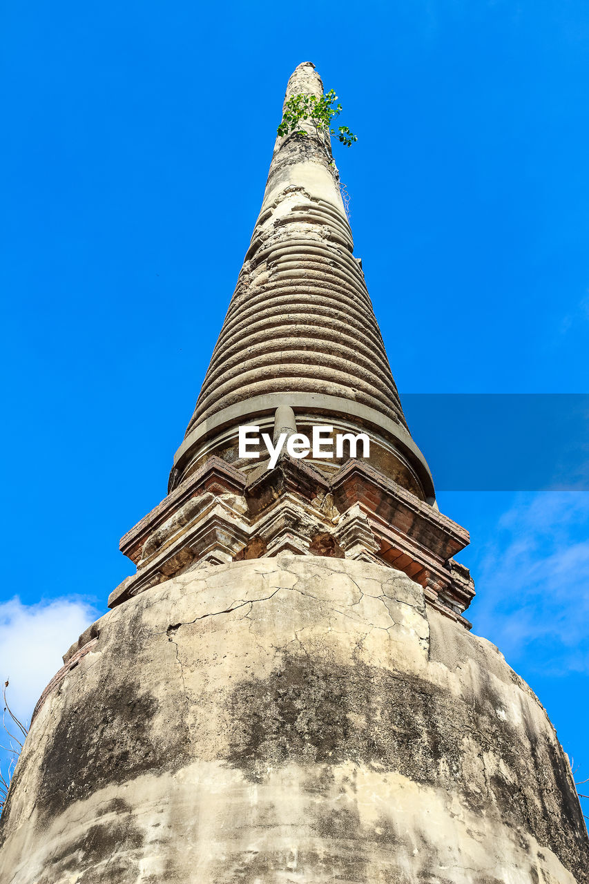
[[[291,76],[287,99],[305,93],[323,95],[310,62]],[[276,139],[168,496],[122,538],[137,573],[109,604],[187,569],[295,552],[402,570],[430,604],[468,625],[474,590],[453,559],[468,532],[432,506],[432,476],[405,423],[331,148],[308,128]],[[247,451],[240,438],[252,425]],[[309,444],[321,437],[325,447]]]

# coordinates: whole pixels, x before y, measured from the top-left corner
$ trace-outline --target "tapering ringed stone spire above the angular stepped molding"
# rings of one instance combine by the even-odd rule
[[[310,62],[295,69],[285,101],[300,94],[323,95]],[[262,209],[172,484],[211,453],[237,463],[237,427],[252,418],[270,426],[284,404],[299,425],[318,420],[371,430],[386,473],[431,498],[429,470],[409,436],[353,256],[329,137],[302,127],[306,137],[276,139]]]

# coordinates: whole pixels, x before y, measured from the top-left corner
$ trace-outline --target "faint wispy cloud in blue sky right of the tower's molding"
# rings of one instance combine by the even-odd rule
[[[521,494],[478,571],[477,631],[544,672],[589,671],[589,494]]]

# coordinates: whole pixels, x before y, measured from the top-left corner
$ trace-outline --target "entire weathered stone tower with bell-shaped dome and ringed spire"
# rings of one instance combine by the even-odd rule
[[[299,65],[287,95],[321,95]],[[240,458],[365,433],[370,456]],[[331,428],[331,429],[328,429]],[[11,884],[572,884],[589,850],[532,690],[464,617],[329,149],[276,141],[167,497],[43,692],[0,822]]]

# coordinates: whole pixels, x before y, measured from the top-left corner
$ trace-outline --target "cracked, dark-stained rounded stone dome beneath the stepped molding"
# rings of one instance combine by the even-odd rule
[[[537,698],[399,572],[205,567],[88,639],[19,760],[3,884],[587,880]]]

